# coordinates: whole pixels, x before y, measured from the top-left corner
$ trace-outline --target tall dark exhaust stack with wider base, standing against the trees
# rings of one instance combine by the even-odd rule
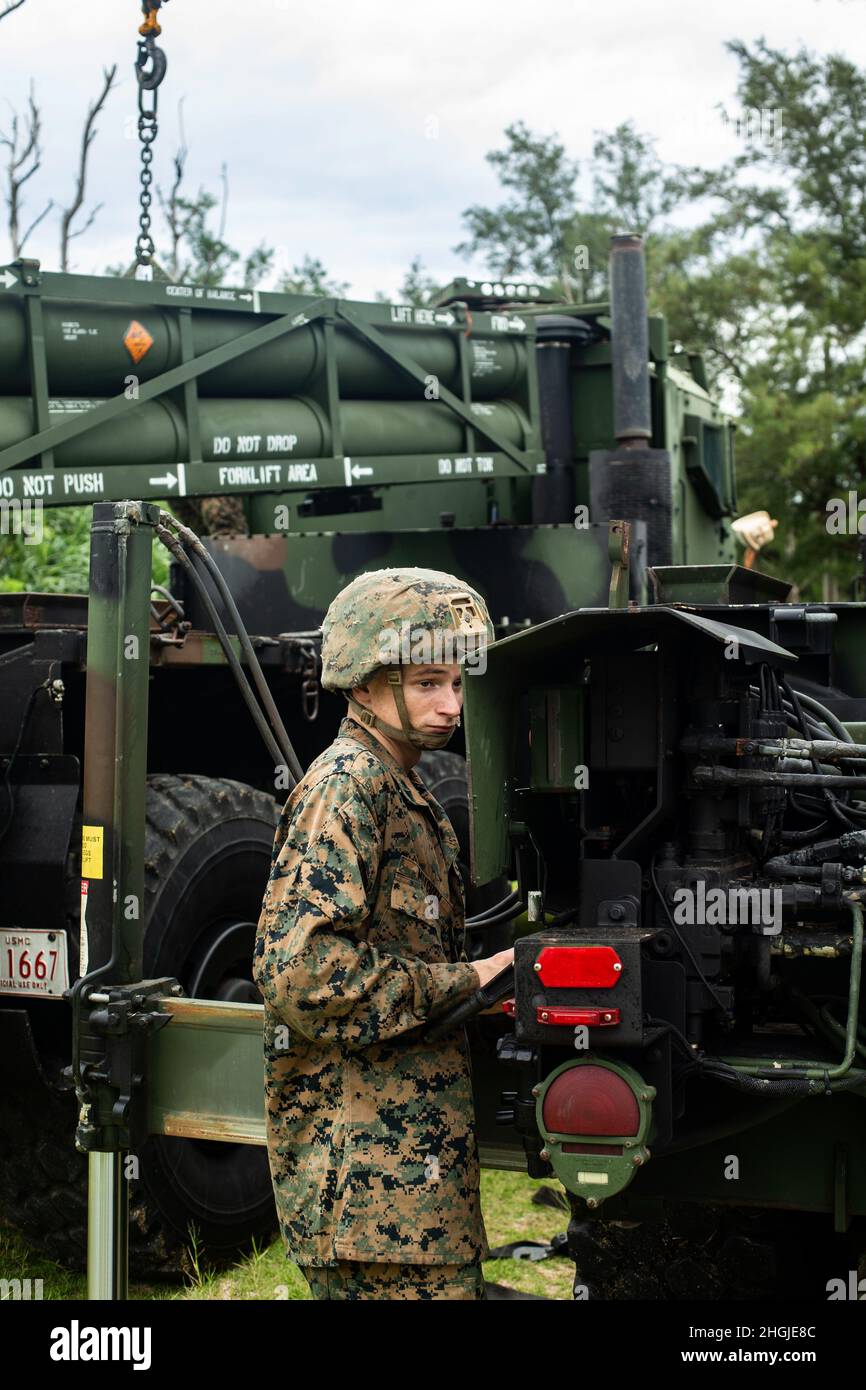
[[[645,521],[646,563],[673,563],[670,455],[652,449],[644,242],[610,239],[610,354],[614,449],[589,455],[592,521]]]

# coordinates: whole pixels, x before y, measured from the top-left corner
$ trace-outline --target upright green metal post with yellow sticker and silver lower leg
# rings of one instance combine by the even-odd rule
[[[104,998],[100,984],[142,977],[150,566],[157,520],[158,507],[149,503],[93,507],[82,827],[88,912],[81,942],[88,1004]],[[86,1076],[81,1030],[74,1047]],[[79,1133],[92,1119],[100,1120],[88,1109],[82,1108]],[[89,1154],[88,1297],[126,1294],[125,1154],[118,1129],[100,1123]]]

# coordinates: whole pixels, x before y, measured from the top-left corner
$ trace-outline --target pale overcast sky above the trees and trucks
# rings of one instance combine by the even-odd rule
[[[138,0],[25,0],[0,22],[0,131],[31,78],[43,113],[24,225],[49,197],[70,199],[88,101],[103,65],[118,64],[88,182],[88,207],[104,207],[74,243],[74,268],[88,274],[133,254],[140,19]],[[157,181],[171,177],[183,99],[188,192],[218,193],[228,164],[227,239],[245,253],[264,239],[278,271],[318,256],[354,297],[396,292],[416,254],[439,282],[485,271],[453,246],[466,207],[499,202],[484,156],[512,121],[587,158],[594,131],[632,118],[662,158],[714,164],[734,147],[717,111],[735,113],[727,39],[763,35],[866,67],[863,0],[170,0],[161,22]],[[58,268],[56,213],[25,254]]]

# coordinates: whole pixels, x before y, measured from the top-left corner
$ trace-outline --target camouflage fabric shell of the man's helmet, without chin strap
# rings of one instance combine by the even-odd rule
[[[359,574],[336,595],[322,621],[321,684],[353,689],[382,664],[382,631],[420,628],[484,634],[493,626],[481,595],[443,570],[395,569]],[[456,657],[455,657],[456,659]]]

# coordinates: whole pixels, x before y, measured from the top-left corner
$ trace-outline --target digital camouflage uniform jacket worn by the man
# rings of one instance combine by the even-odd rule
[[[352,717],[284,808],[253,972],[268,1161],[297,1264],[489,1254],[466,1034],[418,1036],[478,988],[455,942],[457,852],[418,774]]]

